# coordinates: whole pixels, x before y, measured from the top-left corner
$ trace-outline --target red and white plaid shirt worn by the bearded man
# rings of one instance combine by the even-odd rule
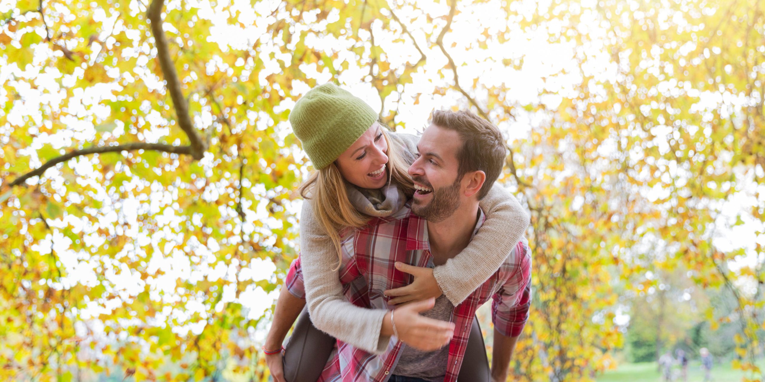
[[[481,212],[474,235],[484,219]],[[343,237],[341,250],[343,264],[338,272],[343,293],[351,303],[369,309],[389,309],[382,291],[412,282],[411,275],[396,270],[396,261],[418,267],[432,264],[427,221],[409,208],[373,219],[364,228],[350,232]],[[531,251],[526,238],[522,238],[496,273],[454,307],[451,322],[455,330],[448,345],[444,382],[457,380],[475,312],[490,298],[495,328],[503,335],[520,335],[529,318],[530,277]],[[291,264],[285,285],[294,296],[305,298],[300,257]],[[392,337],[386,351],[376,355],[337,340],[317,382],[384,382],[396,369],[401,345],[398,338]]]

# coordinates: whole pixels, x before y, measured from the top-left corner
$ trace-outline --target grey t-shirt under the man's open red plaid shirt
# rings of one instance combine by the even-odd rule
[[[435,306],[422,316],[441,321],[450,321],[454,305],[451,305],[446,296],[441,295],[435,299]],[[446,363],[449,356],[449,346],[446,345],[437,351],[419,351],[409,345],[402,344],[399,363],[393,374],[405,377],[417,377],[430,382],[443,382],[446,375]]]

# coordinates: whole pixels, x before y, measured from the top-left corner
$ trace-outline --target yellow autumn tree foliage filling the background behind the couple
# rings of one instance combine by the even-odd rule
[[[763,9],[2,0],[0,377],[267,380],[310,168],[287,116],[335,81],[397,130],[470,108],[507,133],[515,380],[702,344],[761,380]]]

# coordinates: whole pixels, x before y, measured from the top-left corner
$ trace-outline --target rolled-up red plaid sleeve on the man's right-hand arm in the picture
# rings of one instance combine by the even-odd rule
[[[531,306],[531,251],[526,240],[519,241],[511,256],[515,256],[516,265],[493,296],[491,318],[498,332],[517,337],[529,320]]]

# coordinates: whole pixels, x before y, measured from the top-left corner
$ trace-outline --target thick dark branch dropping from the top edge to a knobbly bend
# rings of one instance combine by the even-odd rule
[[[151,21],[151,34],[154,35],[155,46],[157,47],[157,60],[159,60],[162,75],[167,83],[168,92],[170,92],[170,96],[173,99],[178,126],[181,127],[189,138],[191,156],[196,160],[200,160],[204,156],[204,151],[207,150],[207,144],[202,141],[202,138],[197,134],[196,128],[194,128],[194,123],[189,115],[188,104],[181,91],[181,81],[178,79],[175,71],[173,60],[170,57],[170,50],[168,49],[168,40],[164,37],[164,31],[162,30],[162,8],[164,8],[164,0],[153,0],[148,11],[146,11],[146,17]]]

